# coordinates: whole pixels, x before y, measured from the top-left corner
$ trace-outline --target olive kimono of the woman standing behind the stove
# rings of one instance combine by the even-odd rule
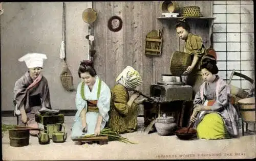
[[[187,76],[187,84],[193,87],[193,98],[199,87],[202,85],[203,78],[200,70],[201,59],[206,55],[206,49],[200,36],[189,33],[185,41],[184,52],[190,56],[197,55],[199,60],[193,71]]]

